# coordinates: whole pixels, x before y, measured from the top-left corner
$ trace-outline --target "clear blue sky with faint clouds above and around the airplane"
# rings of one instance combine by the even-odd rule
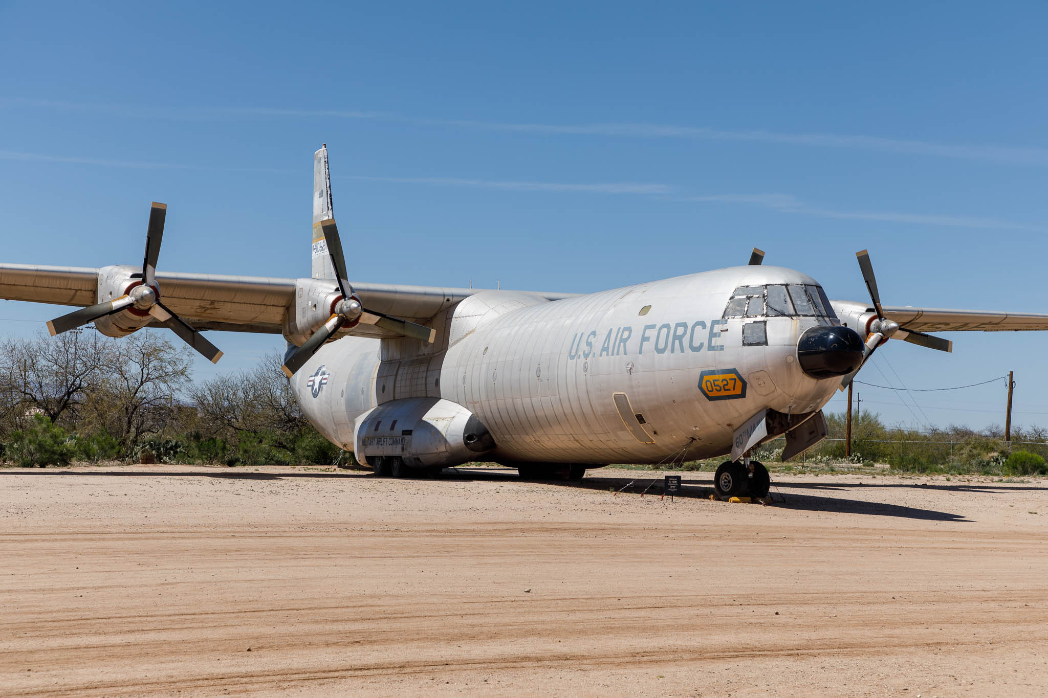
[[[566,4],[0,2],[0,258],[136,263],[157,200],[161,269],[308,275],[326,142],[356,280],[585,292],[758,246],[863,300],[869,248],[887,303],[1048,312],[1043,3]],[[57,314],[2,301],[0,332]],[[949,338],[860,380],[1013,369],[1048,425],[1045,335]],[[283,343],[212,340],[199,378]],[[1003,381],[860,392],[1003,422]]]

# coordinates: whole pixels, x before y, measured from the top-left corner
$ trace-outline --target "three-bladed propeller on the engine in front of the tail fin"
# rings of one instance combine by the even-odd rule
[[[433,342],[437,334],[435,330],[416,322],[401,320],[400,318],[392,317],[378,311],[368,310],[361,303],[361,299],[353,294],[352,287],[346,280],[348,276],[346,273],[346,257],[342,251],[342,240],[339,238],[339,227],[335,225],[334,219],[321,221],[320,225],[324,232],[324,242],[327,245],[328,254],[331,257],[331,265],[334,267],[335,279],[339,283],[339,292],[342,293],[342,299],[334,305],[332,309],[333,314],[328,318],[327,322],[314,332],[302,346],[299,346],[287,357],[284,365],[281,366],[284,375],[288,378],[293,376],[316,353],[316,350],[324,345],[324,342],[333,337],[339,330],[347,324],[352,327],[357,322],[364,322],[365,324],[373,324],[376,328],[381,328],[403,337],[419,339],[423,342]]]

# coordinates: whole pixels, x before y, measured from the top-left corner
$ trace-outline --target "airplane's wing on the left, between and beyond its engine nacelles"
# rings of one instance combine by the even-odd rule
[[[89,267],[0,264],[0,298],[87,307],[96,301],[99,271]],[[198,330],[281,334],[296,292],[293,278],[158,271],[156,280],[165,305]],[[353,284],[353,290],[369,309],[425,324],[442,309],[482,289]],[[556,300],[573,294],[541,295]],[[397,336],[365,324],[353,334]]]

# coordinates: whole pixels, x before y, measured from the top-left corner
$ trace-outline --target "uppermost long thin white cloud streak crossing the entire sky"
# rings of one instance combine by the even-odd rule
[[[607,138],[676,138],[684,140],[776,143],[811,148],[831,148],[980,160],[1002,164],[1046,165],[1048,149],[939,143],[882,136],[830,133],[777,133],[773,131],[735,131],[707,127],[660,123],[526,123],[473,119],[442,119],[406,116],[381,111],[337,109],[279,109],[266,107],[144,107],[137,105],[99,105],[50,99],[0,99],[5,107],[30,107],[61,111],[93,112],[128,118],[177,120],[225,120],[236,117],[351,118],[412,123],[416,126],[529,133],[538,135],[575,135]]]

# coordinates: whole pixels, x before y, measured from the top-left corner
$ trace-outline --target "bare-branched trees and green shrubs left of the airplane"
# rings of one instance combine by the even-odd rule
[[[344,454],[303,418],[281,357],[194,382],[188,348],[93,329],[0,343],[0,458],[331,465]]]

